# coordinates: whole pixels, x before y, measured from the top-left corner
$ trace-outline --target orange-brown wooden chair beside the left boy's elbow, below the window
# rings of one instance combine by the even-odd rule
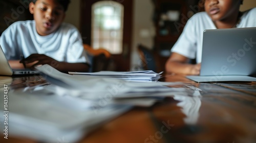
[[[111,63],[113,64],[113,60],[109,51],[105,49],[93,49],[93,47],[88,44],[83,44],[83,47],[87,51],[91,61],[89,72],[113,70],[113,66],[112,68],[110,67]]]

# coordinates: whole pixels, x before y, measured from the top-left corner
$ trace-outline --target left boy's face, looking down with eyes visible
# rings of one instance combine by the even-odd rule
[[[35,4],[30,3],[29,10],[34,15],[36,31],[41,36],[56,31],[65,18],[63,7],[52,0],[37,0]]]

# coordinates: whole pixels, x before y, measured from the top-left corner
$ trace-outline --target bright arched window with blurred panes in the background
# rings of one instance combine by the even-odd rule
[[[94,49],[99,47],[111,54],[122,53],[123,6],[114,1],[99,1],[92,6],[92,40]]]

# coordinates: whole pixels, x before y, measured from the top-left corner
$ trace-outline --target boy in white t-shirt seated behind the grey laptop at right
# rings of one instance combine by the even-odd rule
[[[165,63],[167,73],[199,75],[201,68],[203,31],[256,27],[256,8],[240,12],[243,0],[204,0],[205,12],[191,17],[172,47],[172,55]],[[188,63],[196,59],[197,64]]]

